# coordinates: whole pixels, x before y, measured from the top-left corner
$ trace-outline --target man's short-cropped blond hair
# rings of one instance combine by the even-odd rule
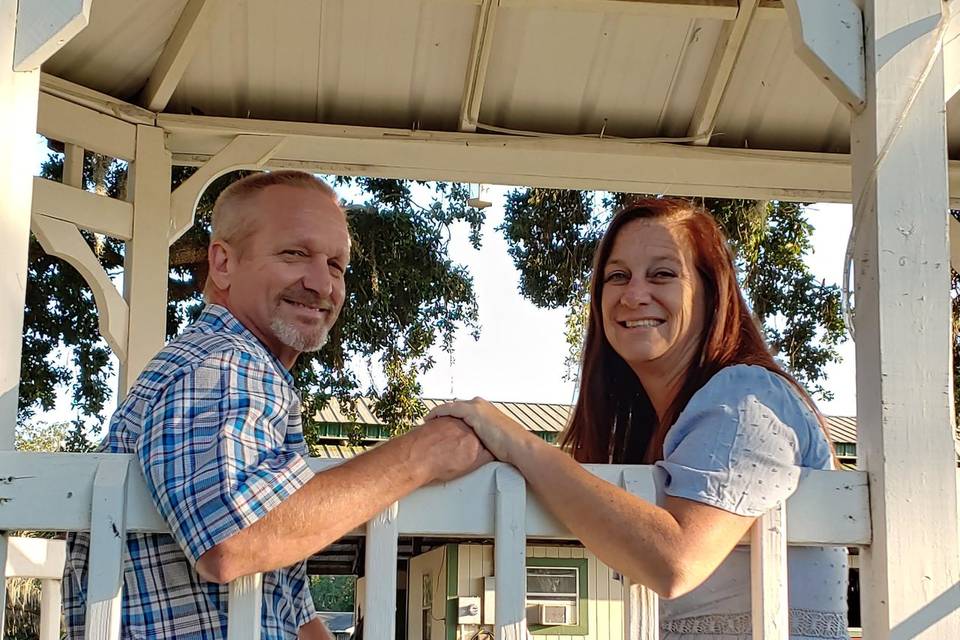
[[[213,205],[210,241],[242,243],[249,235],[255,220],[254,216],[245,215],[242,208],[237,205],[246,202],[267,187],[275,185],[312,189],[330,196],[334,202],[337,202],[337,192],[333,187],[306,171],[288,169],[254,173],[237,180],[217,197]]]

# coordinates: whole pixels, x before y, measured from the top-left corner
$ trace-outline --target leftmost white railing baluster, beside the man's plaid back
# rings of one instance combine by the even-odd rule
[[[88,640],[120,638],[129,466],[126,456],[106,457],[97,467],[93,481],[84,635]]]

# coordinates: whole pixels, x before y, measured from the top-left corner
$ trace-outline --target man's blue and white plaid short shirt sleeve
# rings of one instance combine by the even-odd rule
[[[192,564],[313,477],[285,446],[284,385],[260,357],[216,353],[145,412],[137,454],[147,488]]]

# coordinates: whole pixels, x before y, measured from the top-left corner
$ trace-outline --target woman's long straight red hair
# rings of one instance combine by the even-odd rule
[[[613,350],[603,331],[603,271],[617,234],[634,220],[662,221],[683,230],[705,298],[705,330],[697,350],[700,358],[690,363],[680,392],[661,419],[640,380]],[[823,417],[809,395],[770,354],[740,291],[726,237],[713,216],[689,200],[636,200],[614,216],[597,247],[580,395],[560,444],[579,462],[651,464],[661,460],[667,431],[693,394],[718,371],[736,364],[759,365],[789,381],[826,433]]]

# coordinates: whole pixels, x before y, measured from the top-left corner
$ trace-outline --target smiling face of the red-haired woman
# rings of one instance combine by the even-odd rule
[[[703,283],[683,230],[656,220],[628,222],[601,275],[603,330],[614,351],[641,379],[682,376],[704,324]]]

